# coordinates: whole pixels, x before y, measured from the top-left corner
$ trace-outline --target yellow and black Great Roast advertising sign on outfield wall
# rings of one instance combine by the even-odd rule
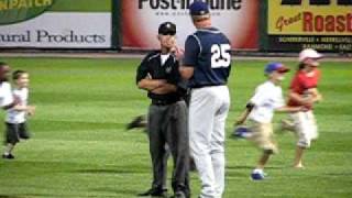
[[[268,48],[352,52],[351,0],[268,0]]]

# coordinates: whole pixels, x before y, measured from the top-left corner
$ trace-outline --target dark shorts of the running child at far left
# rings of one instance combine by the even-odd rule
[[[6,143],[15,144],[20,142],[21,139],[30,139],[30,132],[28,130],[26,123],[8,123],[6,122]]]

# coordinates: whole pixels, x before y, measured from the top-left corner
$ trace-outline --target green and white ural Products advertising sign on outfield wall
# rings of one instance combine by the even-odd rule
[[[67,0],[0,0],[0,47],[110,48],[110,10],[72,7]]]

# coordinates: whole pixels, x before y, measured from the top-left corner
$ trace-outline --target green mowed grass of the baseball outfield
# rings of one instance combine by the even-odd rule
[[[147,139],[139,130],[124,130],[148,106],[145,92],[134,82],[140,59],[1,61],[30,72],[31,102],[37,111],[30,118],[32,139],[15,147],[14,161],[0,160],[0,198],[129,198],[150,187]],[[234,61],[228,136],[255,86],[264,80],[266,63]],[[307,168],[292,168],[295,136],[277,134],[280,153],[268,163],[268,179],[252,182],[249,176],[260,151],[250,142],[228,138],[224,197],[352,196],[352,67],[351,63],[322,63],[321,69],[319,89],[324,101],[316,107],[320,139],[307,152]],[[286,90],[292,75],[283,85]],[[275,122],[283,117],[277,114]],[[191,173],[193,197],[199,188],[198,175]]]

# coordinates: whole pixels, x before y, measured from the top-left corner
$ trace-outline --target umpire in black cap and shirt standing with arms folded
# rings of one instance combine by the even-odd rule
[[[167,155],[165,145],[169,146],[174,160],[172,186],[175,197],[189,197],[188,185],[188,131],[187,107],[183,99],[187,85],[178,72],[179,63],[173,53],[176,46],[176,25],[162,23],[157,38],[161,50],[150,53],[138,68],[136,84],[147,90],[152,100],[147,116],[150,153],[153,163],[152,188],[140,196],[166,196],[164,186]]]

